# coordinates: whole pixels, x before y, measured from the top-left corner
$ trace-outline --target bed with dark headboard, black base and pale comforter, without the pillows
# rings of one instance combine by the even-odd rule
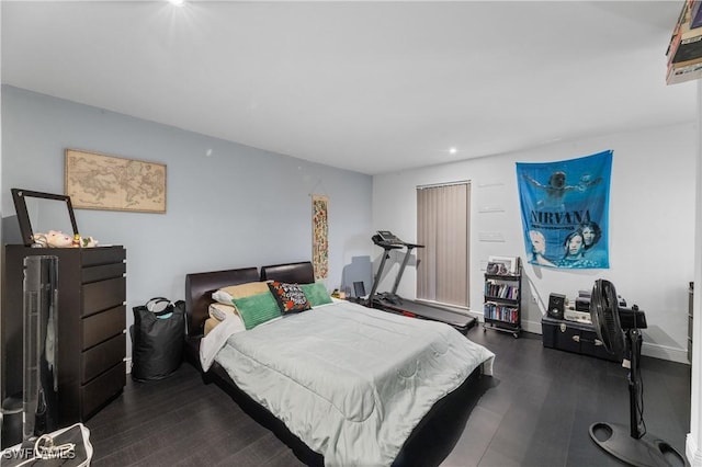
[[[219,324],[203,338],[215,291],[263,281],[314,284],[313,266],[186,275],[185,355],[205,380],[225,389],[307,465],[439,464],[448,453],[438,449],[437,434],[460,424],[456,413],[474,403],[494,354],[448,324],[344,300],[231,335],[219,333]],[[215,334],[225,337],[212,351]],[[444,362],[450,371],[441,368]]]

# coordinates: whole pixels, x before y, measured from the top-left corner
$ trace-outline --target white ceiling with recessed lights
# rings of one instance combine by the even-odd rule
[[[5,0],[0,70],[375,174],[695,121],[695,83],[665,83],[682,1]]]

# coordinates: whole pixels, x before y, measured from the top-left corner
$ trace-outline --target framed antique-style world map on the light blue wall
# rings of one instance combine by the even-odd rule
[[[166,164],[66,149],[73,208],[166,213]]]

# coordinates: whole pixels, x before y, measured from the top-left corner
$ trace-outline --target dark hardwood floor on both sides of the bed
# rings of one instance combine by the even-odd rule
[[[475,327],[468,338],[497,354],[495,375],[475,391],[462,433],[441,466],[621,466],[588,433],[595,422],[629,426],[627,371],[603,360],[544,349]],[[684,455],[690,366],[643,357],[647,431]],[[463,422],[462,422],[463,424]],[[303,465],[189,364],[160,381],[135,383],[90,419],[92,465]],[[454,444],[455,443],[455,444]]]

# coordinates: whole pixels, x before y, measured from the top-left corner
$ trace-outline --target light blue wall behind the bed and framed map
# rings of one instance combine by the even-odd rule
[[[329,196],[328,288],[371,251],[369,175],[7,86],[3,217],[12,187],[64,193],[66,148],[167,164],[166,214],[76,210],[82,235],[127,249],[128,322],[152,296],[183,298],[189,272],[310,260],[313,193]]]

